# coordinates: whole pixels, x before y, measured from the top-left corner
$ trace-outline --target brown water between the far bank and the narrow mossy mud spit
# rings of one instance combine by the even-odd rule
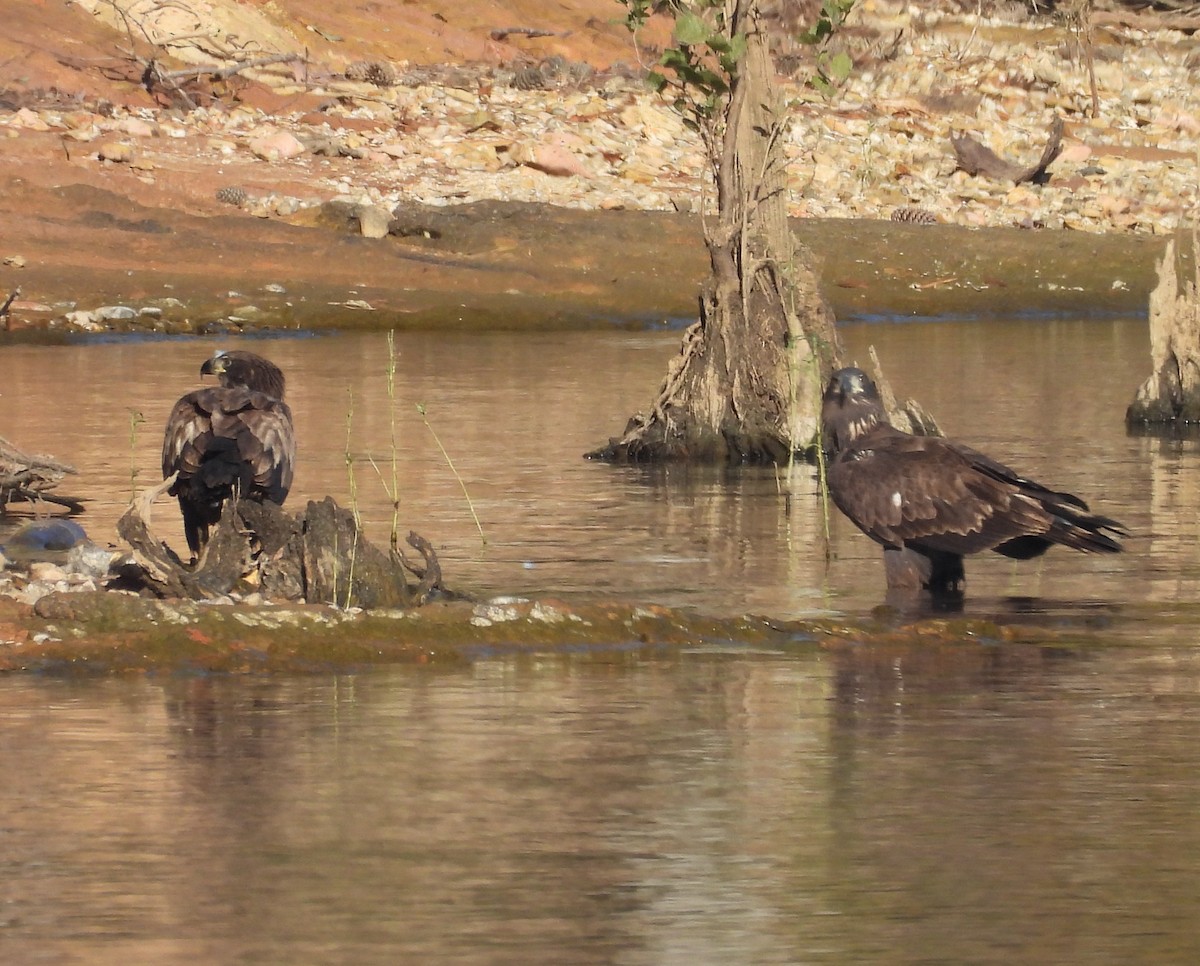
[[[836,516],[827,564],[810,467],[788,478],[761,468],[613,468],[581,458],[652,401],[678,340],[616,330],[402,334],[394,406],[382,335],[256,340],[252,347],[290,376],[300,457],[289,503],[326,493],[356,502],[368,535],[386,542],[389,492],[398,490],[401,535],[416,529],[432,540],[455,587],[619,593],[774,617],[860,612],[880,602],[878,553]],[[898,391],[919,398],[950,436],[1079,493],[1134,534],[1132,552],[1118,558],[1054,551],[1016,566],[994,556],[973,559],[976,601],[1195,596],[1200,494],[1188,481],[1198,449],[1130,438],[1122,421],[1148,370],[1145,323],[851,326],[847,342],[864,359],[874,343]],[[83,522],[92,536],[113,540],[131,475],[139,486],[157,481],[166,415],[200,384],[200,362],[222,344],[230,342],[7,347],[0,434],[74,463],[80,475],[64,490],[90,500]],[[134,426],[134,413],[144,422]],[[173,505],[161,504],[155,520],[182,544]]]

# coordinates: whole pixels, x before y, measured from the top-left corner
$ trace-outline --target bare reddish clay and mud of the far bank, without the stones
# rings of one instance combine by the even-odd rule
[[[634,59],[619,23],[623,10],[614,0],[256,2],[302,37],[311,61],[329,70],[370,59],[511,65],[562,54],[601,67]],[[492,38],[492,31],[512,28],[550,36],[510,32]],[[139,82],[142,68],[127,48],[126,36],[77,4],[6,4],[0,110],[50,103],[59,110],[70,112],[74,104],[86,112],[102,100],[151,107]],[[268,112],[302,110],[317,101],[314,95],[284,96],[260,85],[238,96]],[[336,226],[247,217],[222,205],[216,188],[232,178],[247,188],[314,192],[292,182],[304,176],[294,173],[300,169],[289,167],[281,175],[281,167],[250,157],[217,164],[211,152],[188,154],[188,142],[199,138],[160,150],[152,176],[145,176],[127,164],[98,162],[95,144],[71,142],[61,131],[5,133],[0,128],[0,260],[14,254],[20,259],[0,265],[0,298],[19,286],[25,304],[55,306],[59,316],[70,301],[94,307],[173,295],[188,302],[193,314],[212,317],[221,314],[230,290],[258,292],[275,282],[296,306],[277,318],[280,324],[589,324],[596,318],[686,317],[695,311],[708,269],[697,220],[674,212],[500,206],[484,209],[466,238],[440,246],[373,242]],[[169,157],[158,156],[163,150]],[[348,173],[353,164],[347,160]],[[1048,247],[1033,239],[1036,233],[972,233],[947,226],[812,221],[799,230],[823,262],[826,288],[840,317],[919,314],[935,298],[943,313],[1070,310],[1099,302],[1115,311],[1141,311],[1160,250],[1154,239],[1079,233],[1063,233]],[[956,269],[947,269],[965,280],[961,286],[948,290],[930,282],[928,265],[905,262],[902,252],[925,247],[890,244],[910,230],[926,233],[925,246],[935,244],[948,258],[961,259]],[[934,230],[944,238],[932,241],[928,233]],[[1039,262],[1037,280],[1026,271],[1031,257]],[[1111,278],[1118,275],[1128,289],[1112,293]],[[1027,288],[1033,281],[1038,286]],[[1057,284],[1048,287],[1048,281]],[[379,311],[330,306],[350,299]],[[49,314],[42,313],[43,324]]]

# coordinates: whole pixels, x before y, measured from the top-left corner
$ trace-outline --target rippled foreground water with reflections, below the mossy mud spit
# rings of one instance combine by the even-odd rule
[[[1188,961],[1194,654],[0,683],[7,961]],[[124,959],[121,959],[124,956]]]

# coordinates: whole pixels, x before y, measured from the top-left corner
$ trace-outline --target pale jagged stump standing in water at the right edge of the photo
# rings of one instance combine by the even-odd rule
[[[1193,257],[1195,256],[1193,239]],[[1200,426],[1200,268],[1181,288],[1175,242],[1158,263],[1158,284],[1150,293],[1150,359],[1153,371],[1126,410],[1126,425]]]

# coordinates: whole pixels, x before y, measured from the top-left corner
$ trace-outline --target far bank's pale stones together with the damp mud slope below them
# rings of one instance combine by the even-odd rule
[[[1141,311],[1158,239],[1195,204],[1192,36],[1097,29],[1092,118],[1068,26],[892,2],[856,17],[856,70],[833,100],[785,80],[792,211],[835,308],[986,313],[1003,287],[1013,298],[1001,302],[1032,296],[1033,311]],[[194,110],[121,85],[112,100],[8,91],[0,214],[16,230],[0,287],[22,296],[7,328],[557,325],[694,311],[706,164],[638,71],[562,55],[389,62],[383,76],[354,64],[310,65],[302,83],[287,65],[264,68],[238,98]],[[1026,163],[1056,116],[1066,136],[1048,184],[954,170],[952,136]],[[414,210],[461,217],[434,233]],[[908,234],[923,229],[950,234]],[[1028,230],[997,242],[996,229]],[[1080,282],[1114,238],[1128,242],[1115,258],[1127,270],[1108,289]],[[1024,250],[1025,264],[992,259],[997,246]],[[653,276],[644,284],[630,284],[631,251],[632,272]],[[949,264],[967,252],[990,283]],[[1034,263],[1061,277],[1025,284]],[[614,283],[630,298],[605,290]]]

